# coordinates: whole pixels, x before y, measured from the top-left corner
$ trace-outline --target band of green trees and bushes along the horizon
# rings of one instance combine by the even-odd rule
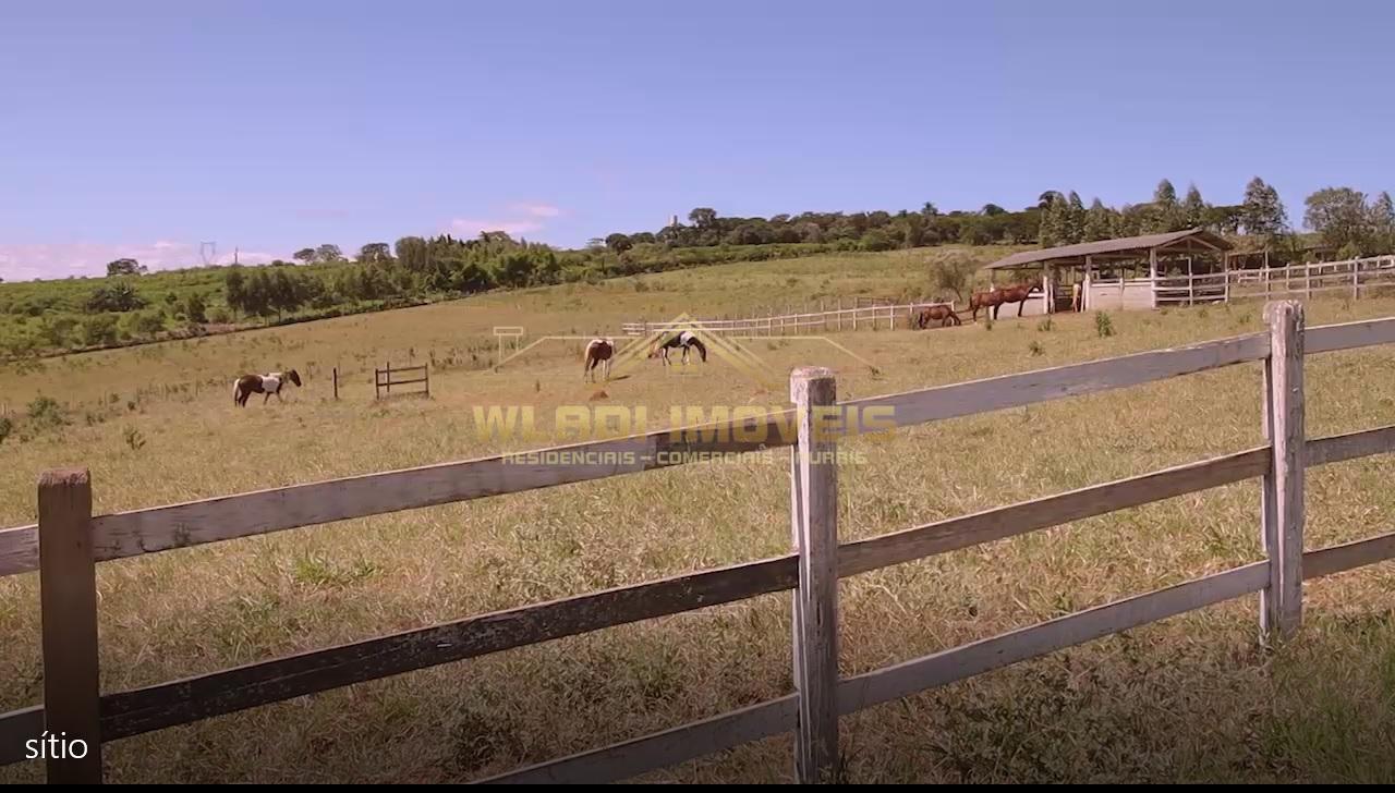
[[[1074,191],[1049,190],[1036,203],[1007,210],[942,213],[933,203],[900,212],[805,212],[771,217],[723,217],[714,209],[688,213],[688,224],[658,231],[615,233],[583,249],[513,240],[502,231],[460,240],[402,237],[370,242],[353,259],[332,244],[303,248],[299,263],[197,268],[146,273],[134,259],[107,265],[107,279],[0,284],[0,354],[109,347],[170,333],[193,334],[230,323],[336,316],[519,288],[661,272],[677,268],[808,256],[838,251],[887,251],[939,244],[1062,245],[1152,231],[1205,227],[1232,236],[1242,248],[1269,247],[1279,261],[1318,247],[1339,256],[1395,249],[1395,206],[1352,188],[1325,188],[1304,201],[1297,234],[1278,192],[1254,178],[1237,205],[1207,203],[1193,185],[1179,199],[1163,180],[1147,203],[1089,206]],[[212,328],[211,328],[212,326]]]

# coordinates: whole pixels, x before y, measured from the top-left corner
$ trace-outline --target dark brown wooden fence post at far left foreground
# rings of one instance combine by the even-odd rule
[[[43,727],[49,739],[57,739],[45,744],[47,780],[100,783],[96,562],[92,482],[85,468],[39,477],[39,612]]]

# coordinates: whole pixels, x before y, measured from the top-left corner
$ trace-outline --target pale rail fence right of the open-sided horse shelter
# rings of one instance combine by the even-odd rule
[[[1154,283],[1159,307],[1247,298],[1309,298],[1314,294],[1356,300],[1375,290],[1395,291],[1395,256],[1236,269],[1209,275],[1159,275]]]

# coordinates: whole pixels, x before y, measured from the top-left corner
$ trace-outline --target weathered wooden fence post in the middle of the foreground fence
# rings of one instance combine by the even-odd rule
[[[838,465],[830,432],[837,410],[833,372],[790,375],[799,443],[790,457],[790,523],[799,553],[794,592],[794,684],[799,694],[795,771],[799,782],[838,775]]]

